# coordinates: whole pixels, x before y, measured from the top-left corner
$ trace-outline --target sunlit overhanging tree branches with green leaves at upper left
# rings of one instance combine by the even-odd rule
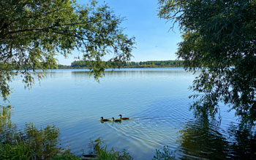
[[[7,100],[15,75],[31,87],[33,74],[42,79],[56,67],[56,55],[67,57],[74,49],[95,78],[104,73],[106,54],[127,62],[135,41],[123,33],[121,21],[97,1],[81,6],[75,0],[0,0],[0,97]]]

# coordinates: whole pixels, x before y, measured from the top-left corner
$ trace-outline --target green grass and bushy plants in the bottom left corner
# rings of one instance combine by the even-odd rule
[[[1,132],[2,159],[50,159],[61,153],[59,129],[54,126],[38,130],[34,124],[26,124],[25,132],[11,131]]]

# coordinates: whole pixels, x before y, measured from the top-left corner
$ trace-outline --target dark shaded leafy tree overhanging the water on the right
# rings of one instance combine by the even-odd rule
[[[256,121],[256,1],[159,0],[159,17],[173,20],[183,41],[177,55],[188,71],[201,70],[192,95],[196,116],[230,105],[244,122]]]

